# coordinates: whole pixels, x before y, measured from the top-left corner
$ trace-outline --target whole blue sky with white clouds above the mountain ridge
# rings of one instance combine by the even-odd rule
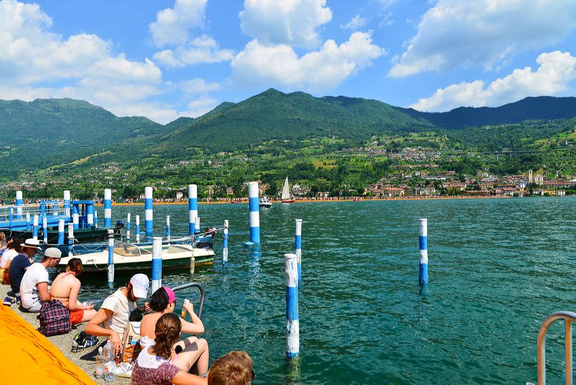
[[[575,27],[573,0],[0,0],[0,99],[163,124],[270,87],[501,106],[574,95]]]

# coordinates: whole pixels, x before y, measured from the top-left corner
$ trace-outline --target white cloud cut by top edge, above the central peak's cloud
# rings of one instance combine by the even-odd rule
[[[326,0],[245,0],[239,17],[242,31],[260,44],[312,48],[320,42],[316,28],[332,11]]]

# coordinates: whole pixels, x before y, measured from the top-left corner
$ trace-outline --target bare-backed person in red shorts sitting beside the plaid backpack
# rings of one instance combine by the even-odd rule
[[[50,298],[57,299],[70,310],[70,324],[73,325],[89,321],[96,315],[94,306],[84,306],[78,301],[80,275],[82,275],[82,260],[71,258],[66,265],[66,271],[58,274],[50,287]]]

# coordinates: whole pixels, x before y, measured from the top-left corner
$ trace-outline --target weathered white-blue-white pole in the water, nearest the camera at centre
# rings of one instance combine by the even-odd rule
[[[297,259],[296,254],[284,254],[286,266],[286,357],[295,357],[300,354]]]

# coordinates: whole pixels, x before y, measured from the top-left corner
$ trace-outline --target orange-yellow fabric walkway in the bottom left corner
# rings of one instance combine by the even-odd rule
[[[4,384],[96,384],[49,339],[1,304],[0,355]]]

